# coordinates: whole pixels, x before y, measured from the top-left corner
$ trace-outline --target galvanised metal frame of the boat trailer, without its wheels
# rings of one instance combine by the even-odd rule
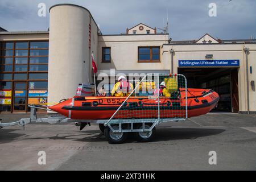
[[[159,125],[163,122],[171,122],[171,121],[185,121],[188,118],[188,102],[187,102],[187,78],[185,78],[184,75],[181,74],[175,74],[175,75],[168,75],[168,74],[154,74],[154,76],[157,76],[158,80],[156,81],[157,89],[159,89],[159,76],[181,76],[184,78],[185,81],[185,117],[184,118],[161,118],[160,115],[160,96],[158,92],[158,96],[156,97],[157,105],[158,105],[158,117],[157,118],[146,118],[146,119],[115,119],[115,115],[118,113],[118,111],[125,105],[126,101],[133,95],[136,89],[138,89],[138,86],[146,80],[147,76],[152,76],[153,74],[147,74],[145,75],[142,80],[135,86],[133,91],[127,96],[126,100],[123,101],[123,103],[118,107],[118,109],[115,111],[115,113],[112,115],[109,119],[98,119],[98,120],[81,120],[81,119],[71,119],[68,117],[65,117],[63,115],[50,115],[48,118],[38,118],[36,109],[43,109],[50,111],[52,113],[55,113],[55,111],[48,109],[48,106],[45,105],[28,105],[31,108],[30,111],[30,118],[22,118],[19,121],[15,122],[9,122],[9,123],[1,123],[0,122],[0,129],[2,127],[6,126],[15,126],[19,125],[21,127],[27,125],[28,123],[50,123],[50,124],[56,124],[56,123],[63,123],[63,122],[69,122],[69,123],[79,123],[81,126],[81,123],[98,123],[100,125],[104,125],[105,128],[109,127],[111,132],[113,134],[118,133],[150,133],[153,129],[155,129],[155,126]],[[141,128],[138,129],[138,127],[135,127],[137,125],[141,125]],[[147,125],[147,128],[145,127]],[[118,127],[116,127],[118,126]],[[148,126],[150,126],[148,128]],[[105,133],[105,132],[104,132]]]

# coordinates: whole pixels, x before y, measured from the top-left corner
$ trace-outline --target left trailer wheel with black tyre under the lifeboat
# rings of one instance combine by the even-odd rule
[[[113,129],[118,129],[117,125],[112,126]],[[125,142],[127,138],[126,132],[115,133],[108,126],[104,129],[104,135],[110,144],[119,144]]]

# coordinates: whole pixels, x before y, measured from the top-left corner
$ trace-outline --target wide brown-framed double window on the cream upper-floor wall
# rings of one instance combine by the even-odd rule
[[[138,47],[139,62],[159,62],[160,47]]]

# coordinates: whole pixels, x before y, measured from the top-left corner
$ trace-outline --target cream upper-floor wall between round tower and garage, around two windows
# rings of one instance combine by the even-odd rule
[[[170,61],[162,57],[161,46],[168,42],[168,35],[113,35],[99,36],[98,58],[101,70],[143,70],[143,69],[168,69]],[[138,47],[159,46],[160,63],[138,63]],[[102,47],[111,47],[111,63],[101,63]]]

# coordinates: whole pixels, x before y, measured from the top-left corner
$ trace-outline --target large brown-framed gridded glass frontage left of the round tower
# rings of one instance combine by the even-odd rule
[[[43,40],[0,42],[0,90],[7,90],[6,96],[0,98],[0,111],[30,111],[26,106],[29,101],[47,102],[48,47],[49,42]],[[35,92],[28,93],[28,97],[36,98],[19,97],[20,91],[25,95]],[[11,93],[16,98],[11,98]]]

